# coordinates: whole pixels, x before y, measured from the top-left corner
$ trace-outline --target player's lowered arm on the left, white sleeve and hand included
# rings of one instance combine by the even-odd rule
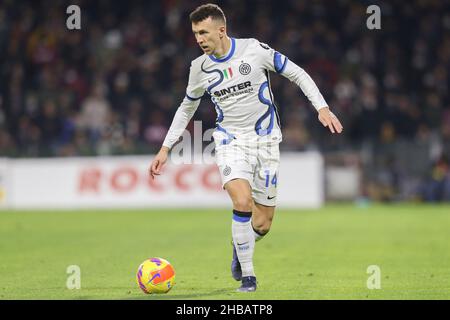
[[[170,149],[183,134],[183,131],[186,129],[186,126],[200,104],[200,100],[205,90],[200,84],[199,73],[198,68],[192,64],[189,71],[189,83],[186,89],[186,96],[173,117],[172,124],[170,125],[161,149],[155,158],[153,158],[150,165],[149,174],[153,179],[155,176],[161,174],[161,169],[169,157]]]

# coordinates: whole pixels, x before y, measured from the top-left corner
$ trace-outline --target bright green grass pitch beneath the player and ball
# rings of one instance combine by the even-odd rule
[[[280,210],[256,246],[255,293],[235,292],[230,240],[227,210],[0,211],[0,299],[450,298],[450,206]],[[147,257],[174,265],[168,294],[136,285]],[[381,289],[367,288],[370,265]]]

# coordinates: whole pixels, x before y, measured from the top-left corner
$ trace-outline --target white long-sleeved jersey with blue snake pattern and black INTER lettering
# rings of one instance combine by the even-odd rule
[[[287,57],[256,39],[231,38],[222,58],[203,54],[192,61],[186,96],[163,145],[171,148],[179,139],[205,93],[217,112],[214,138],[219,144],[281,141],[269,71],[296,83],[317,110],[327,106],[311,77]]]

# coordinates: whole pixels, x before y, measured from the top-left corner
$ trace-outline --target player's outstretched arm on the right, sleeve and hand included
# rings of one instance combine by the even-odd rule
[[[314,80],[301,67],[286,56],[275,51],[264,43],[259,43],[262,63],[267,70],[281,74],[297,84],[318,112],[319,121],[328,127],[331,133],[341,133],[343,126],[338,117],[331,112],[328,104],[319,91]]]

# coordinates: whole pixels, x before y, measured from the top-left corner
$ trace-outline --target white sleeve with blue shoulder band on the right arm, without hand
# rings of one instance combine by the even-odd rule
[[[265,43],[258,41],[257,50],[263,67],[281,74],[299,86],[317,111],[328,106],[314,80],[305,70]]]

